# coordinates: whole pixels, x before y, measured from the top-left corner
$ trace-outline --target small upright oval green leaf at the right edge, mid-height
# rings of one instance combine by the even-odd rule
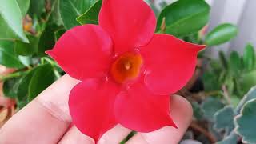
[[[251,44],[247,44],[243,55],[243,64],[246,68],[246,70],[252,70],[254,69],[255,66],[255,51],[254,51],[254,46]]]

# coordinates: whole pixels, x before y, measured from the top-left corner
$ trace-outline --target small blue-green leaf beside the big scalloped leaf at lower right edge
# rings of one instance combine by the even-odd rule
[[[234,129],[234,109],[231,106],[225,106],[214,114],[214,128],[216,130]]]

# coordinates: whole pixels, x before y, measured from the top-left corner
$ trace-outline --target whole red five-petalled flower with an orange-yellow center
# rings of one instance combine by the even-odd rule
[[[99,26],[76,26],[47,51],[82,81],[70,92],[70,114],[96,142],[118,123],[140,132],[176,127],[169,95],[188,82],[204,46],[154,34],[155,26],[142,0],[103,0]]]

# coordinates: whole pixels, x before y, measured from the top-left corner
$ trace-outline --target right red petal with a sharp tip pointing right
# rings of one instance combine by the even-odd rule
[[[154,94],[174,94],[194,74],[197,54],[205,46],[184,42],[167,34],[154,34],[141,49],[146,66],[146,86]]]

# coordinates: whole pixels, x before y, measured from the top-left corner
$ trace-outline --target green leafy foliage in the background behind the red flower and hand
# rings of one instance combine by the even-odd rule
[[[230,23],[206,33],[210,6],[204,0],[162,2],[160,6],[154,0],[146,2],[158,18],[156,33],[172,34],[207,48],[229,42],[238,34],[237,26]],[[0,75],[2,124],[65,74],[45,51],[52,49],[66,30],[98,24],[101,5],[102,0],[0,1],[0,64],[7,67],[1,67],[7,72]],[[193,78],[178,92],[194,109],[193,122],[181,143],[256,143],[254,46],[246,45],[242,55],[221,51],[218,59],[204,53],[198,54]]]

